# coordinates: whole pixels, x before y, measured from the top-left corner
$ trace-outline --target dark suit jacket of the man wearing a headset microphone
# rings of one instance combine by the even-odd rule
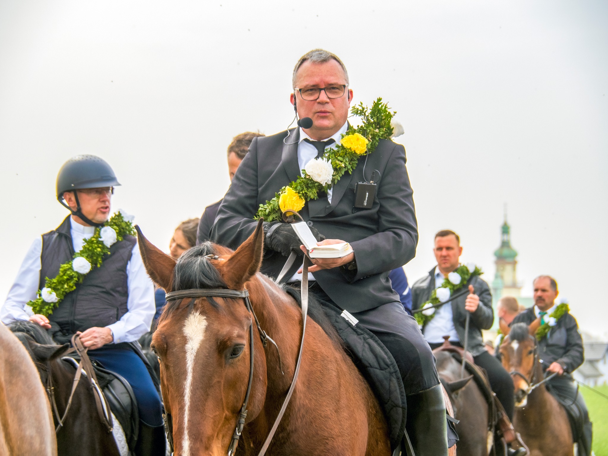
[[[220,244],[238,247],[253,232],[254,215],[260,204],[274,198],[280,188],[300,175],[297,149],[299,129],[274,136],[257,137],[241,162],[232,185],[219,207],[212,238]],[[291,144],[290,144],[291,143]],[[411,260],[416,253],[418,230],[412,188],[402,145],[381,140],[368,156],[365,175],[378,170],[381,179],[371,209],[354,207],[354,186],[363,181],[364,158],[353,174],[345,173],[333,187],[331,204],[326,197],[309,201],[300,211],[329,239],[351,244],[356,271],[324,269],[314,273],[319,285],[343,309],[360,312],[389,302],[399,302],[389,272]],[[267,251],[262,272],[277,277],[287,258]],[[289,271],[291,277],[299,265]]]

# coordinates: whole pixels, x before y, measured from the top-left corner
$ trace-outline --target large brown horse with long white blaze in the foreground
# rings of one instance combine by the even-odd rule
[[[139,229],[138,240],[148,274],[167,291],[249,291],[260,326],[280,353],[279,358],[274,345],[264,348],[260,337],[254,338],[254,378],[237,454],[258,454],[291,384],[302,336],[295,300],[258,272],[261,223],[236,252],[204,243],[177,263]],[[176,456],[226,455],[246,394],[251,323],[243,299],[187,298],[165,306],[151,346],[161,361],[162,396],[171,414]],[[268,454],[390,455],[378,402],[337,334],[326,331],[306,320],[300,375]]]

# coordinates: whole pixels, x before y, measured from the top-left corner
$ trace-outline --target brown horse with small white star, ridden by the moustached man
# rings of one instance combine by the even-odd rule
[[[538,359],[536,333],[540,320],[516,323],[500,345],[502,365],[515,385],[513,425],[530,449],[530,456],[572,456],[572,430],[564,407],[547,391]]]

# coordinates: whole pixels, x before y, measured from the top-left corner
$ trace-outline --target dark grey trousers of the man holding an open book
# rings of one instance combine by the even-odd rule
[[[339,307],[316,282],[309,285],[309,291],[321,305],[326,302]],[[416,320],[406,313],[401,303],[384,304],[352,315],[359,320],[358,325],[371,331],[393,355],[406,395],[420,393],[439,384],[435,357],[429,344]]]

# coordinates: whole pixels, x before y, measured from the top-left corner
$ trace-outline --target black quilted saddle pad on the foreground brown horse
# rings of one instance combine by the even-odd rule
[[[378,337],[340,316],[341,309],[325,302],[322,308],[378,399],[389,424],[391,447],[395,449],[403,438],[407,418],[406,391],[395,359]]]

